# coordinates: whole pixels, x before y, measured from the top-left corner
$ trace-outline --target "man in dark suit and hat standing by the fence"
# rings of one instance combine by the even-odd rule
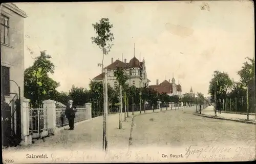
[[[69,120],[69,130],[74,130],[74,119],[76,117],[76,112],[76,107],[73,105],[73,101],[69,100],[65,111],[65,116]]]

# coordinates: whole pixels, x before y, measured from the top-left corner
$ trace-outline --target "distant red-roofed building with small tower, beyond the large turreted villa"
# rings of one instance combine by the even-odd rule
[[[182,96],[182,88],[181,85],[175,83],[175,78],[172,78],[172,82],[164,80],[162,83],[158,84],[159,80],[156,80],[156,85],[149,86],[150,88],[156,90],[157,92],[166,93],[169,96],[178,95]]]

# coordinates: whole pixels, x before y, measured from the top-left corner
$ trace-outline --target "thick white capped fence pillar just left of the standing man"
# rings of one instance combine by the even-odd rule
[[[49,134],[57,134],[56,127],[56,101],[54,100],[45,100],[42,101],[44,108],[47,108],[47,128]]]

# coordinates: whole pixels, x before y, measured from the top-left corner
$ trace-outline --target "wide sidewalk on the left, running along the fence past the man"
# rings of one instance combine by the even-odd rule
[[[178,109],[178,107],[177,107]],[[181,107],[179,107],[181,109]],[[173,108],[174,110],[174,108]],[[166,111],[166,108],[162,108]],[[167,108],[170,111],[170,108]],[[158,113],[160,109],[146,110],[145,114]],[[141,111],[141,115],[144,111]],[[119,114],[108,115],[107,117],[107,139],[109,149],[128,149],[129,138],[132,126],[132,118],[140,115],[140,112],[129,112],[129,118],[124,121],[124,113],[122,113],[122,128],[119,129]],[[83,123],[75,123],[74,131],[67,130],[68,126],[62,128],[58,134],[49,136],[44,140],[35,140],[31,146],[10,147],[3,149],[5,152],[20,151],[20,150],[42,150],[42,149],[102,149],[102,131],[103,117],[99,116]]]

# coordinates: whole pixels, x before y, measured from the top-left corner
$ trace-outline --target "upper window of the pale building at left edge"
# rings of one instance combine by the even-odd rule
[[[1,43],[10,44],[9,42],[9,18],[1,14]]]

